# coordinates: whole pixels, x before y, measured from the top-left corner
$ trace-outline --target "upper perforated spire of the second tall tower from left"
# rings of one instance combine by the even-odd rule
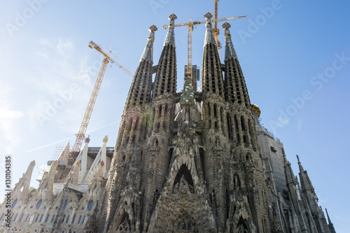
[[[174,95],[176,93],[176,52],[174,20],[176,15],[169,15],[170,25],[164,41],[162,55],[158,62],[157,74],[155,75],[155,85],[153,89],[152,101],[162,95]]]

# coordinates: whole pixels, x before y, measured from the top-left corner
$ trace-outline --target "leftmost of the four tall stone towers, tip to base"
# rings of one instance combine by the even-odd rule
[[[143,144],[152,132],[153,113],[149,112],[153,71],[154,25],[132,80],[120,122],[116,150],[106,183],[106,200],[102,208],[99,231],[116,232],[117,228],[134,231],[140,225],[142,207],[139,192]]]

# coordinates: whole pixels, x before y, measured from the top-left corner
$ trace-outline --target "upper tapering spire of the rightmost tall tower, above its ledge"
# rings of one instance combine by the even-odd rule
[[[244,105],[250,111],[251,101],[246,81],[231,40],[231,25],[225,22],[222,27],[225,29],[225,99],[234,104]]]

